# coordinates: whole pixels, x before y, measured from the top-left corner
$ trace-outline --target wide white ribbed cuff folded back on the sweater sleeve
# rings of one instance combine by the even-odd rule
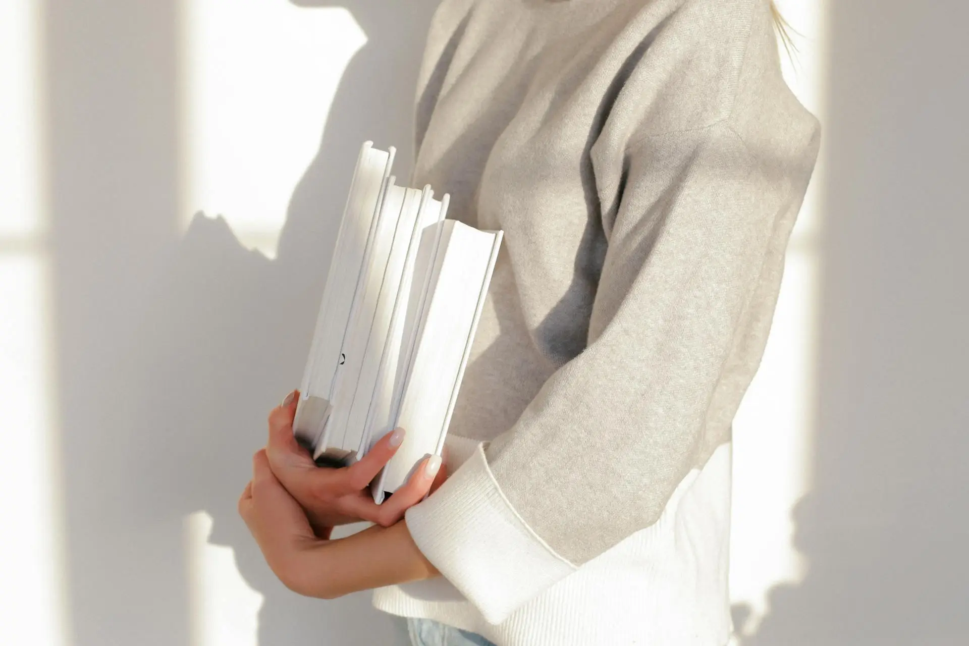
[[[427,560],[489,624],[575,571],[521,519],[487,466],[484,446],[404,516]]]

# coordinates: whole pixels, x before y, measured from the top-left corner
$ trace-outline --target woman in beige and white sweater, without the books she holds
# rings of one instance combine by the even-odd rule
[[[774,18],[768,0],[445,0],[414,184],[505,231],[449,464],[378,508],[364,486],[399,433],[314,469],[290,397],[239,502],[287,585],[379,588],[416,644],[727,642],[731,425],[820,136]],[[327,540],[360,518],[377,524]]]

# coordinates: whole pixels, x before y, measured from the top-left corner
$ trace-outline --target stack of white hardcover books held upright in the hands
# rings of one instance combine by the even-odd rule
[[[502,238],[446,220],[447,194],[395,186],[381,153],[360,150],[294,421],[322,466],[402,426],[377,502],[443,448]]]

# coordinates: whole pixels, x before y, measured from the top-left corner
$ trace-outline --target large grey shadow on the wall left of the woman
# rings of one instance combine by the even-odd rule
[[[276,261],[243,249],[221,219],[197,215],[184,236],[176,229],[177,4],[46,3],[73,643],[189,643],[183,520],[205,510],[210,542],[232,546],[265,597],[261,646],[403,644],[369,593],[319,601],[286,590],[235,506],[268,411],[298,384],[360,143],[396,145],[400,176],[410,171],[436,3],[337,3],[368,40],[340,81]]]

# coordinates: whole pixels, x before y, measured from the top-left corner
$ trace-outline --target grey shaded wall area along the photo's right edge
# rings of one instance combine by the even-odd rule
[[[742,646],[969,634],[969,10],[930,4],[829,5],[820,401],[794,513],[808,569]]]

